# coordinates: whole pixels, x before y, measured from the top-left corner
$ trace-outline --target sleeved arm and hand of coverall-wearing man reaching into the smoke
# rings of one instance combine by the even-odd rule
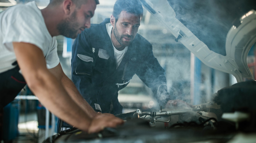
[[[186,103],[182,100],[176,99],[176,95],[167,92],[166,77],[163,68],[160,66],[158,60],[153,55],[152,45],[148,44],[146,58],[141,64],[141,70],[136,74],[139,78],[153,91],[159,104],[165,108],[172,108],[176,106],[185,106],[194,108],[194,105]],[[143,67],[144,66],[144,67]]]

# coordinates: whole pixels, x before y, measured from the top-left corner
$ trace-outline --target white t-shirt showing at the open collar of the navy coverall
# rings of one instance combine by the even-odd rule
[[[111,25],[111,23],[107,23],[106,24],[106,28],[107,28],[107,31],[108,31],[108,35],[109,35],[109,37],[111,39],[111,30],[112,30],[113,26]],[[111,42],[112,42],[112,40],[111,40]],[[112,42],[112,45],[113,45],[113,42]],[[117,67],[116,67],[116,69],[117,69],[118,66],[120,65],[120,63],[121,63],[121,61],[122,61],[122,59],[123,59],[127,49],[128,49],[128,46],[126,46],[122,51],[118,51],[114,47],[114,45],[113,45],[113,48],[114,48],[115,59],[116,59],[116,63],[117,63]]]

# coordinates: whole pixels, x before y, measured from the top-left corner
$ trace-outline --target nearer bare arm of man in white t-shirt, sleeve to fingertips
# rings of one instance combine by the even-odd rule
[[[54,115],[87,132],[116,127],[122,120],[108,116],[92,119],[68,95],[57,78],[46,68],[41,49],[30,43],[13,42],[18,65],[28,86],[40,102]]]

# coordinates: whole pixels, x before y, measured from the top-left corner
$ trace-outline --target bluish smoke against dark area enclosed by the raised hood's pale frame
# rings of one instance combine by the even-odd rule
[[[226,55],[226,35],[240,17],[256,9],[254,0],[168,0],[179,19],[210,50]]]

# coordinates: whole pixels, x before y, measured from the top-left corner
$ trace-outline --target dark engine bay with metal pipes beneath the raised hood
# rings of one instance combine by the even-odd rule
[[[44,142],[232,142],[234,138],[255,140],[256,81],[246,81],[225,87],[214,99],[195,108],[160,107],[116,115],[125,123],[117,128],[105,128],[96,134],[79,129],[62,131]],[[243,138],[244,139],[244,138]],[[235,139],[238,141],[238,139]]]

